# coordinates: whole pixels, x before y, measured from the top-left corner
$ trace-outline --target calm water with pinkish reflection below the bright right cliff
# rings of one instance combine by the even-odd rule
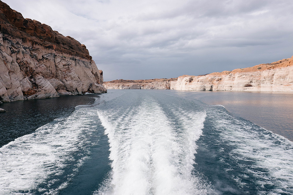
[[[293,93],[178,92],[209,105],[223,105],[234,116],[250,120],[293,141]]]

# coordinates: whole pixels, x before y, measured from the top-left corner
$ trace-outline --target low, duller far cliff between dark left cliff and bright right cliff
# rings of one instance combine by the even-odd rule
[[[104,82],[107,89],[170,89],[170,81],[173,79],[150,79],[150,80],[113,80]]]

